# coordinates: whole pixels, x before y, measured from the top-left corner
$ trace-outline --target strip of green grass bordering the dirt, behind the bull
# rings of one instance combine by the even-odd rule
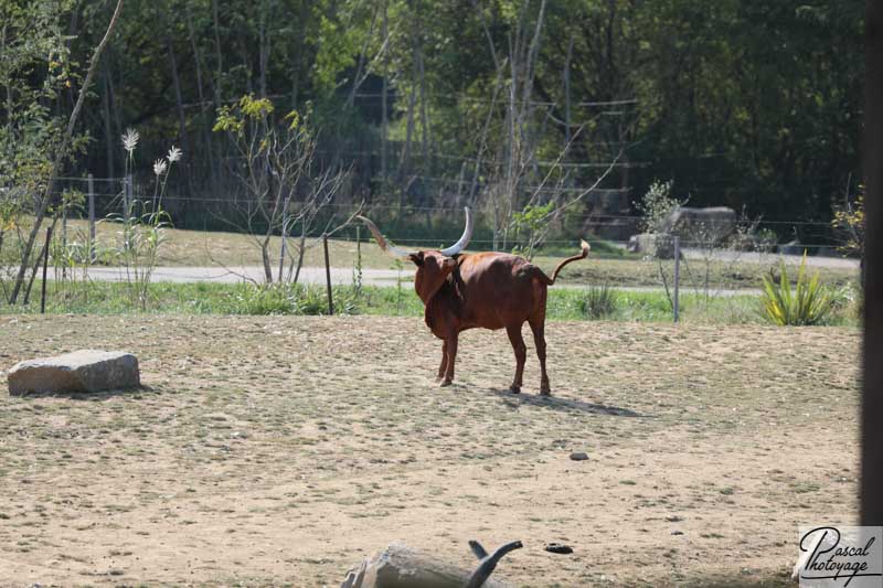
[[[423,303],[413,285],[400,287],[336,286],[332,289],[338,314],[423,316]],[[105,281],[49,282],[46,312],[126,314],[132,310],[125,284]],[[744,324],[764,323],[759,296],[711,297],[685,293],[680,300],[684,322]],[[0,313],[40,312],[40,282],[30,303],[0,303]],[[155,282],[148,289],[147,310],[153,314],[304,314],[328,313],[321,286],[256,286],[254,284]],[[550,288],[549,320],[611,320],[670,322],[671,303],[663,291],[632,291],[602,288]],[[855,325],[851,307],[833,313],[826,324]]]

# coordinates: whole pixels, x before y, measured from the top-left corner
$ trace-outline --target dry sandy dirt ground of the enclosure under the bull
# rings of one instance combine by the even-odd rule
[[[470,538],[524,542],[522,586],[776,582],[799,523],[857,512],[854,330],[550,323],[543,399],[502,332],[436,388],[416,319],[0,321],[0,370],[121,348],[147,386],[0,395],[2,586],[337,586]]]

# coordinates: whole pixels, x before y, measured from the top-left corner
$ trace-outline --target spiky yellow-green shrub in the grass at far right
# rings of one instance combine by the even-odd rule
[[[819,282],[818,271],[810,278],[806,270],[807,256],[800,261],[797,270],[795,291],[788,279],[785,261],[779,266],[779,278],[776,280],[770,271],[764,276],[764,291],[760,301],[764,316],[778,325],[809,325],[825,321],[834,308],[831,292]]]

